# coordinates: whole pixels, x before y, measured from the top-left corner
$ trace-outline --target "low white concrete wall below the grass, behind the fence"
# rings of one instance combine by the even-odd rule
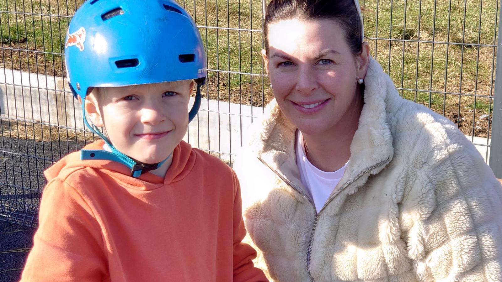
[[[20,118],[82,129],[82,111],[66,80],[0,68],[0,112],[2,117]],[[193,98],[191,98],[191,103]],[[203,99],[199,114],[185,135],[192,146],[221,152],[223,160],[235,154],[252,119],[262,115],[261,107]],[[489,156],[490,140],[467,136],[483,158]],[[484,146],[483,146],[484,145]],[[488,149],[489,151],[489,149]],[[233,159],[233,157],[232,157]]]

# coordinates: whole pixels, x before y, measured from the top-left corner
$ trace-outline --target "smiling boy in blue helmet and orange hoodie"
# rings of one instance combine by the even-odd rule
[[[241,243],[235,174],[182,141],[200,104],[203,48],[172,0],[93,0],[75,13],[68,82],[103,140],[45,172],[21,280],[266,280]]]

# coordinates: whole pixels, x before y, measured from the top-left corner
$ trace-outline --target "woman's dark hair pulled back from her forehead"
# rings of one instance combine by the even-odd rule
[[[345,31],[350,50],[358,55],[362,48],[362,23],[354,0],[272,0],[267,6],[264,23],[265,48],[269,50],[270,24],[299,19],[333,20]]]

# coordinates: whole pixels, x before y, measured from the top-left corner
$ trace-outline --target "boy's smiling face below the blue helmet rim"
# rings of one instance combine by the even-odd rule
[[[142,163],[159,163],[186,133],[194,84],[184,80],[99,88],[86,99],[86,112],[118,151]]]

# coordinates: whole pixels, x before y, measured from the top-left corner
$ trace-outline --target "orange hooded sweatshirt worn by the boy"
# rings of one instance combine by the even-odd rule
[[[102,140],[85,149],[102,149]],[[45,171],[40,227],[22,281],[267,281],[241,243],[240,188],[181,142],[164,178],[72,153]]]

